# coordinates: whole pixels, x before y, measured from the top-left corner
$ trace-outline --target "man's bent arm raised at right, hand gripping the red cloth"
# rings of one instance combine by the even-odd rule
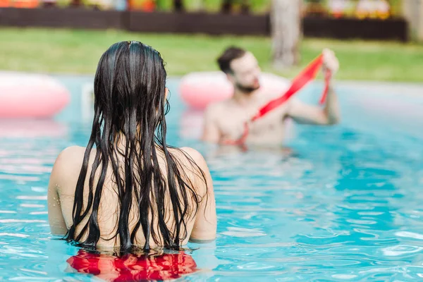
[[[324,71],[329,70],[333,75],[338,71],[339,63],[333,51],[325,49],[324,54]],[[324,109],[319,106],[303,104],[298,100],[292,100],[288,109],[288,116],[298,123],[307,123],[314,125],[333,125],[339,123],[339,105],[338,97],[333,87],[333,80],[329,84],[328,95],[326,97],[326,105]]]

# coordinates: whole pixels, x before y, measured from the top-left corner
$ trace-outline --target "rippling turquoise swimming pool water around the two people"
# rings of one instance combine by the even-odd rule
[[[57,154],[85,146],[92,78],[58,77],[73,93],[55,121],[0,121],[0,281],[95,281],[52,240],[47,183]],[[218,238],[190,244],[202,271],[183,281],[416,281],[423,278],[423,87],[343,83],[342,124],[295,126],[287,157],[223,152],[195,140],[199,113],[168,81],[168,140],[199,149],[214,178]],[[311,85],[302,99],[317,101]]]

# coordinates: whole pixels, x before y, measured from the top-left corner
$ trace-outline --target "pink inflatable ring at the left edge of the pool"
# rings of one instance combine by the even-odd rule
[[[48,118],[69,100],[68,90],[47,75],[0,72],[0,118]]]

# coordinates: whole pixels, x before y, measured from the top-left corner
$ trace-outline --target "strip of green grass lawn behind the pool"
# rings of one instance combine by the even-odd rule
[[[0,69],[36,73],[93,74],[102,53],[114,42],[139,40],[159,50],[169,75],[217,70],[216,57],[228,45],[252,51],[263,71],[271,68],[268,37],[209,37],[206,35],[154,35],[116,30],[0,29]],[[301,65],[276,72],[288,78],[329,47],[341,62],[341,80],[423,82],[423,45],[398,42],[304,39]]]

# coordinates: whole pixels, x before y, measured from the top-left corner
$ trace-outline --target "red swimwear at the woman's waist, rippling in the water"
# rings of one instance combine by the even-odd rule
[[[198,270],[194,259],[185,252],[114,257],[79,250],[66,262],[80,273],[113,282],[169,280]]]

